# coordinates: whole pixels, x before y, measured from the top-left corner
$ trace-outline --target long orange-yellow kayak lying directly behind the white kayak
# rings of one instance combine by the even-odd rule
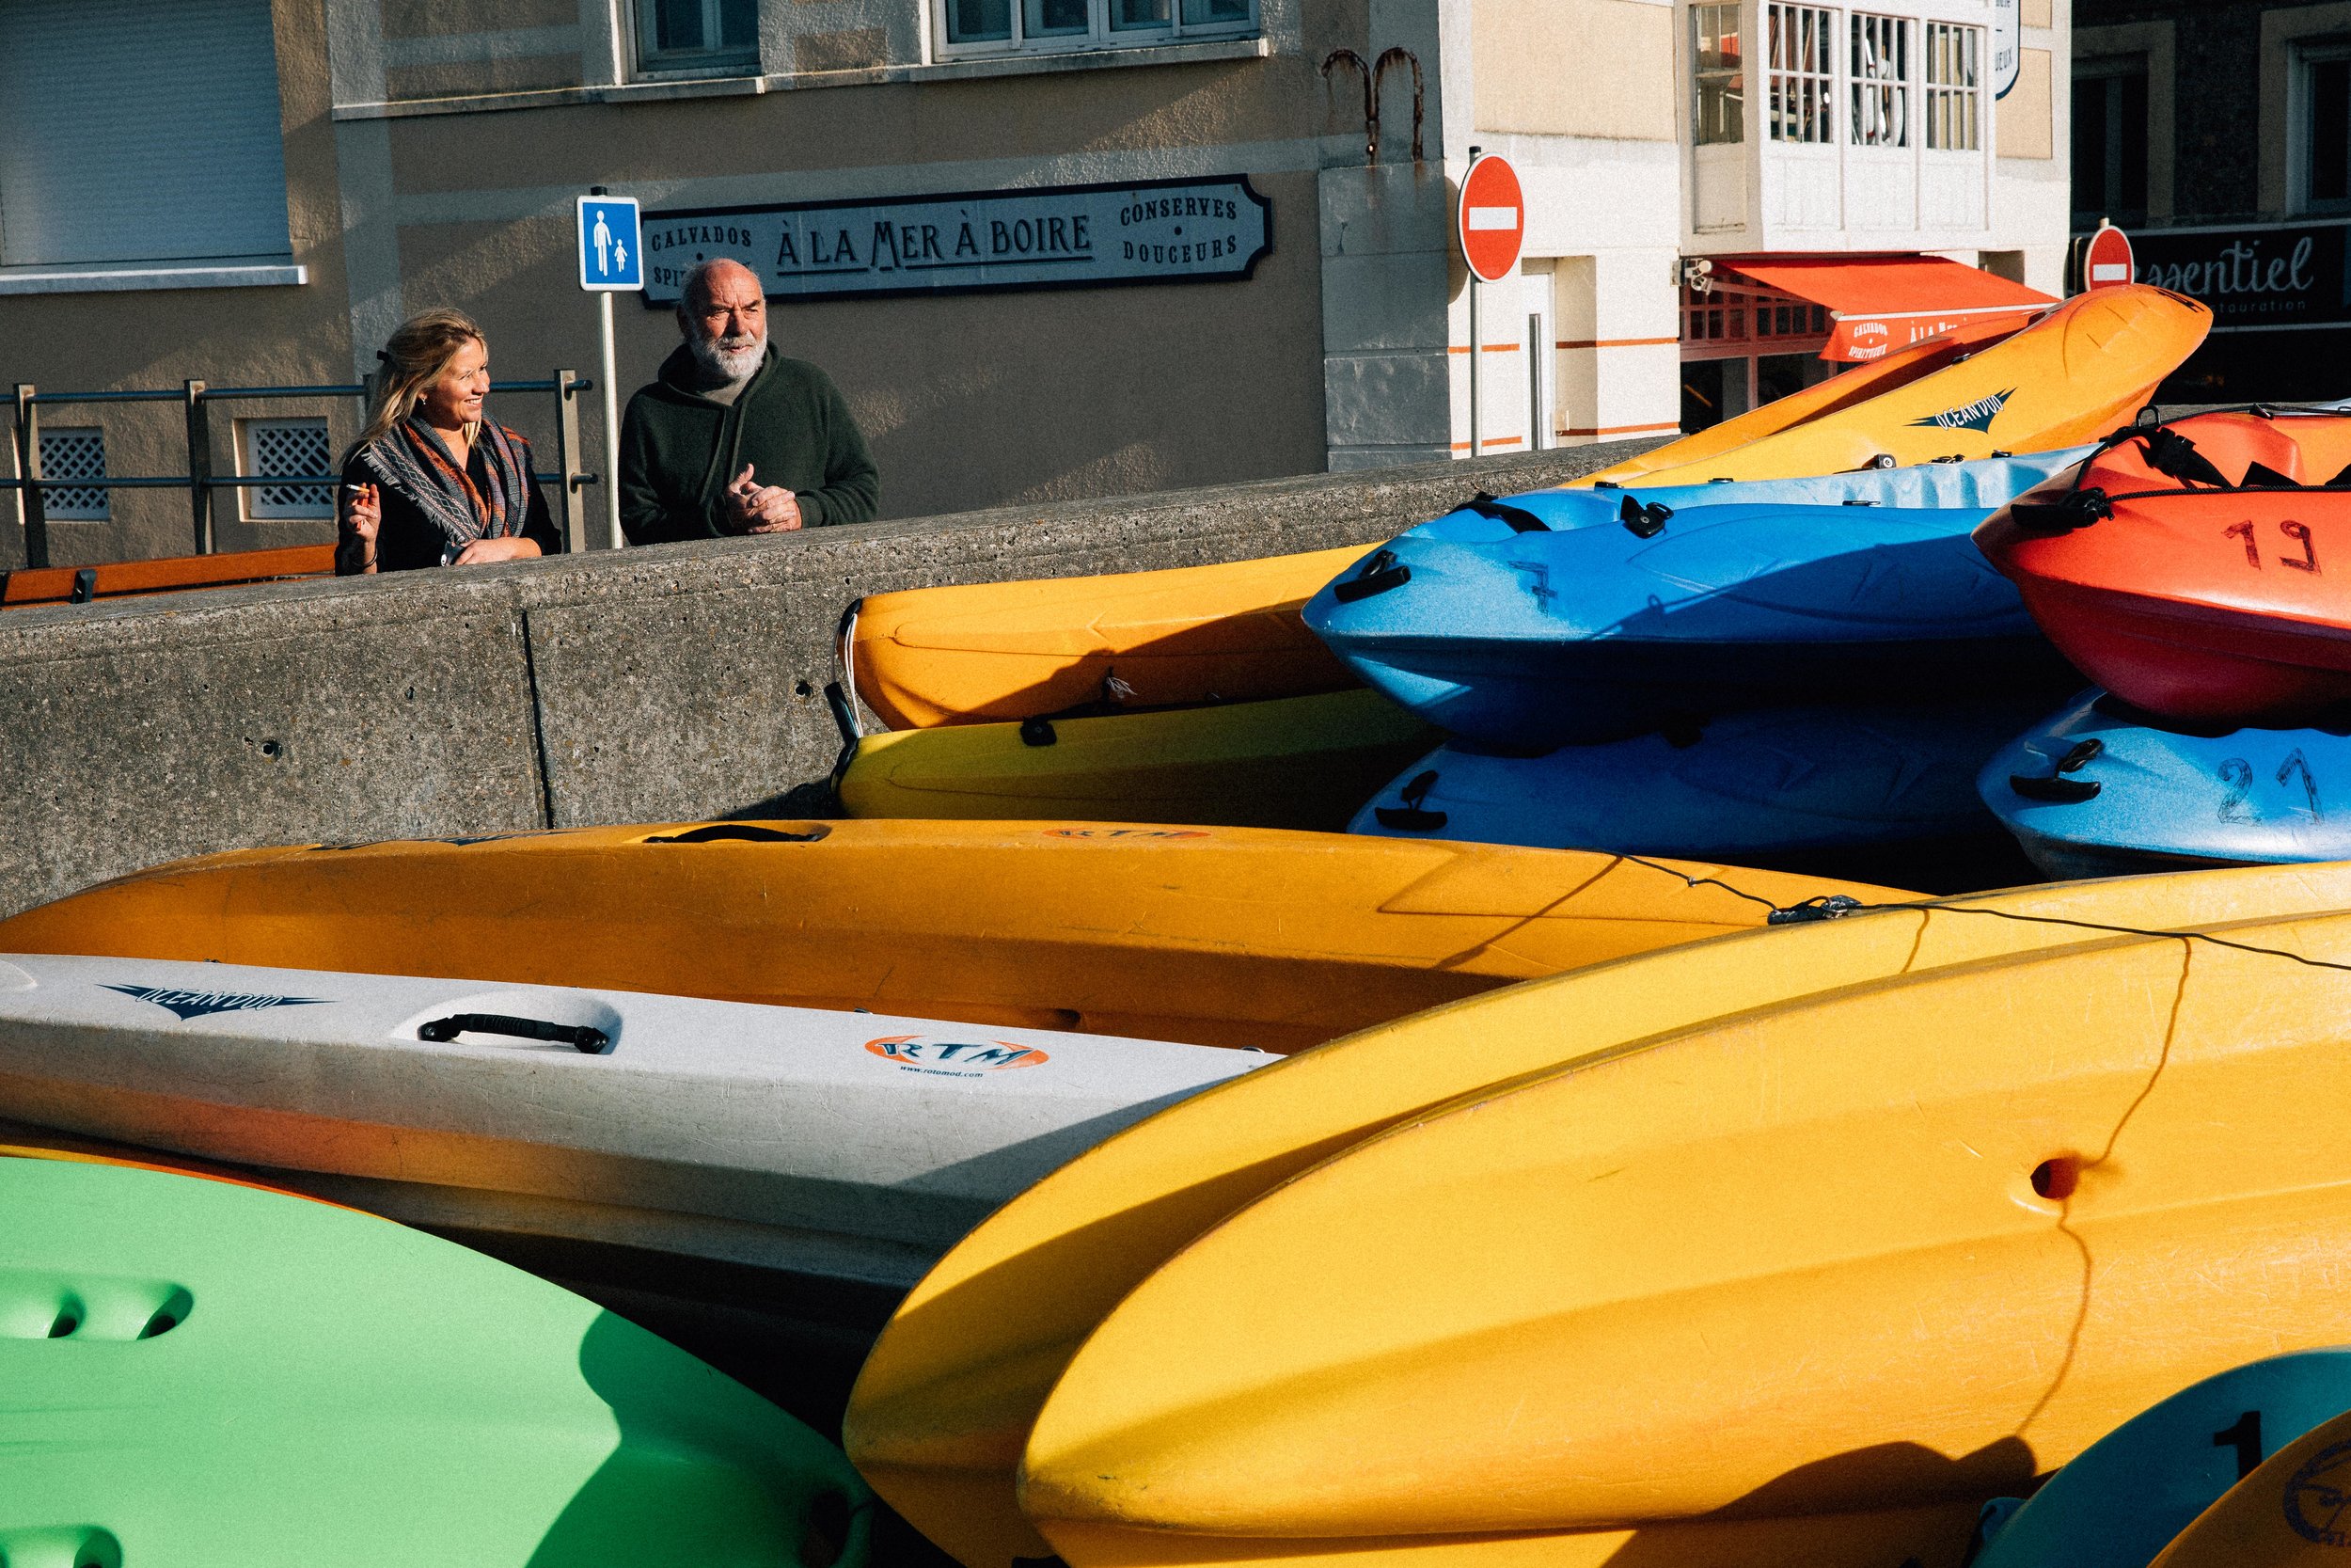
[[[679,823],[179,860],[0,922],[0,952],[602,985],[1298,1051],[1512,980],[1747,931],[1827,893],[1907,898],[1262,827]]]

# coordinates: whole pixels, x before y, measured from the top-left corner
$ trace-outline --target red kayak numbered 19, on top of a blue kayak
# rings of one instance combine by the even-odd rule
[[[2109,437],[1975,531],[2074,665],[2189,724],[2351,705],[2351,416],[2198,414]]]

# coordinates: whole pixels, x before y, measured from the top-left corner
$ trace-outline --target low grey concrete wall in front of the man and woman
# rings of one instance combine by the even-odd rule
[[[1373,543],[1639,449],[14,609],[0,912],[247,844],[809,811],[858,595]]]

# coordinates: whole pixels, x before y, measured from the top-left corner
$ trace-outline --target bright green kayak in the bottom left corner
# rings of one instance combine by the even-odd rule
[[[503,1262],[0,1159],[7,1568],[860,1568],[868,1502],[809,1427]]]

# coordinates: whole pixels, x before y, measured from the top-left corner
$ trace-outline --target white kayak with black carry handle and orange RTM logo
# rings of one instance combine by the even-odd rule
[[[891,1293],[1046,1171],[1272,1060],[618,990],[0,957],[7,1121],[468,1237]]]

